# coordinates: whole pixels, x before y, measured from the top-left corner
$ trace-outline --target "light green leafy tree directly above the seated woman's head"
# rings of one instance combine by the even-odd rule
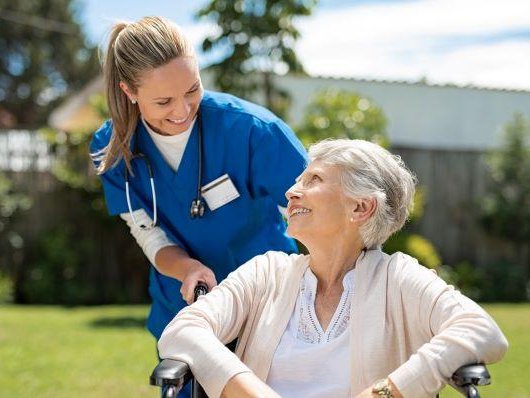
[[[325,138],[358,138],[383,147],[389,144],[383,110],[361,94],[327,89],[318,92],[297,127],[298,137],[309,144]]]

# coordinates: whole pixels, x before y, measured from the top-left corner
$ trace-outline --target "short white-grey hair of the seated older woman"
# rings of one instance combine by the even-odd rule
[[[344,192],[375,198],[374,214],[360,228],[366,248],[381,246],[403,227],[413,207],[416,178],[401,158],[364,140],[324,140],[309,148],[311,161],[338,166]]]

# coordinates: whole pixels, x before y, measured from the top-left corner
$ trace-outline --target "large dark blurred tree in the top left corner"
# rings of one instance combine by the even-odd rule
[[[0,0],[0,101],[16,124],[38,127],[99,70],[71,0]]]

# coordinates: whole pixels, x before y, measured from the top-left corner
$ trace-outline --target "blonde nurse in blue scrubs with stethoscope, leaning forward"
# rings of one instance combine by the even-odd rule
[[[271,112],[203,90],[192,46],[166,19],[116,24],[103,68],[111,119],[90,151],[109,213],[153,265],[158,339],[198,282],[211,289],[255,255],[296,252],[278,206],[306,155]]]

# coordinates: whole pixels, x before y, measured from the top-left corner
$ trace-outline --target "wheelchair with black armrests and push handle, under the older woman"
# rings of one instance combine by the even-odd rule
[[[195,288],[195,300],[206,293],[208,293],[208,287],[199,283]],[[192,398],[208,397],[201,385],[193,378],[193,374],[185,362],[164,359],[155,367],[149,377],[149,383],[152,386],[162,388],[162,398],[176,398],[179,391],[188,382],[192,383]],[[490,383],[491,376],[484,364],[464,365],[453,373],[449,381],[449,385],[467,398],[480,398],[476,387]]]

